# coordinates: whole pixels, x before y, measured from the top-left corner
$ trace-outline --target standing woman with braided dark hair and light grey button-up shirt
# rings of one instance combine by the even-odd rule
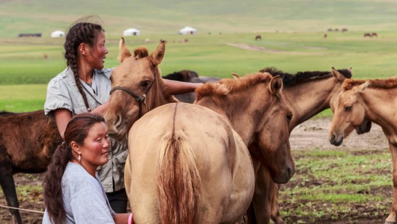
[[[68,121],[75,114],[103,114],[108,107],[111,70],[104,68],[108,54],[105,33],[98,24],[79,22],[70,27],[65,40],[67,67],[48,84],[44,112],[55,116],[64,138]],[[164,80],[171,94],[193,92],[201,83]],[[127,195],[124,186],[124,165],[128,155],[127,140],[111,139],[109,162],[98,168],[110,205],[116,213],[125,213]]]

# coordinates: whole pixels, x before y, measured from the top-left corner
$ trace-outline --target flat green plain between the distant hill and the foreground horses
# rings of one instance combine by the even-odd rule
[[[378,32],[378,38],[364,38],[362,32],[268,32],[256,33],[142,35],[127,37],[130,50],[145,45],[153,51],[166,39],[166,54],[160,64],[162,74],[191,69],[199,75],[231,77],[232,72],[247,74],[265,66],[286,72],[330,70],[353,67],[354,78],[387,78],[396,75],[397,32]],[[120,36],[107,33],[105,66],[119,64]],[[149,38],[150,43],[144,44]],[[180,40],[189,39],[187,43]],[[46,84],[65,68],[64,39],[0,39],[0,111],[28,112],[42,109]],[[265,50],[246,50],[228,44],[245,44]],[[44,58],[48,55],[48,59]],[[40,93],[40,94],[39,94]],[[321,114],[330,115],[330,112]]]

